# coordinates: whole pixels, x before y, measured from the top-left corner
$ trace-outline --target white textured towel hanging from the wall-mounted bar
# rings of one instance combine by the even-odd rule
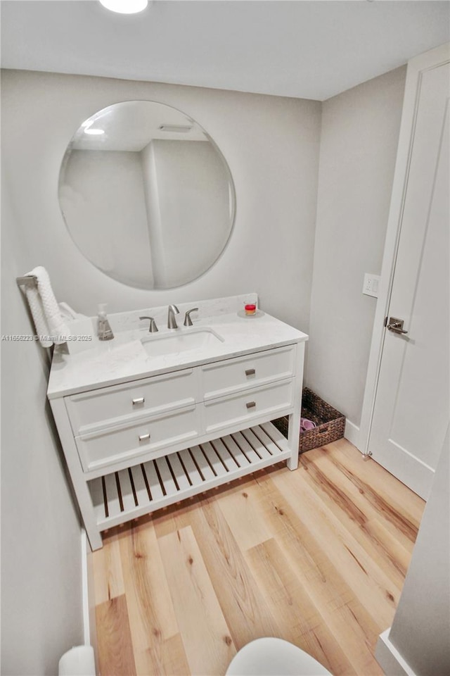
[[[39,265],[28,275],[37,277],[37,288],[27,287],[27,301],[33,315],[34,326],[39,336],[49,336],[51,339],[41,338],[41,346],[50,347],[53,343],[65,343],[70,335],[68,326],[61,317],[60,308],[51,289],[49,273]]]

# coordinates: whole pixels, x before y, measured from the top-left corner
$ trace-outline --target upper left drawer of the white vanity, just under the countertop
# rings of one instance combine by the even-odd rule
[[[190,368],[66,396],[73,433],[86,434],[190,406],[196,399],[195,382],[195,371]]]

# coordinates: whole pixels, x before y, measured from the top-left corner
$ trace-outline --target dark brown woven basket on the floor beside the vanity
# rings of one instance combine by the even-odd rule
[[[302,418],[316,423],[313,430],[300,434],[299,451],[310,451],[342,439],[345,430],[345,415],[323,401],[308,387],[302,392]],[[285,437],[288,437],[288,416],[272,421]]]

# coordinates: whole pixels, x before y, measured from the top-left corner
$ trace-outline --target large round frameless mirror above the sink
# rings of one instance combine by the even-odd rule
[[[63,158],[59,201],[84,256],[140,289],[203,275],[229,240],[236,203],[205,130],[154,101],[124,101],[85,120]]]

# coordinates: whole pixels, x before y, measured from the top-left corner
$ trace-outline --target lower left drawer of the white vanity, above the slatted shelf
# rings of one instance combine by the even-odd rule
[[[198,411],[192,406],[147,422],[84,434],[75,437],[75,442],[83,470],[88,472],[193,439],[200,431]]]

